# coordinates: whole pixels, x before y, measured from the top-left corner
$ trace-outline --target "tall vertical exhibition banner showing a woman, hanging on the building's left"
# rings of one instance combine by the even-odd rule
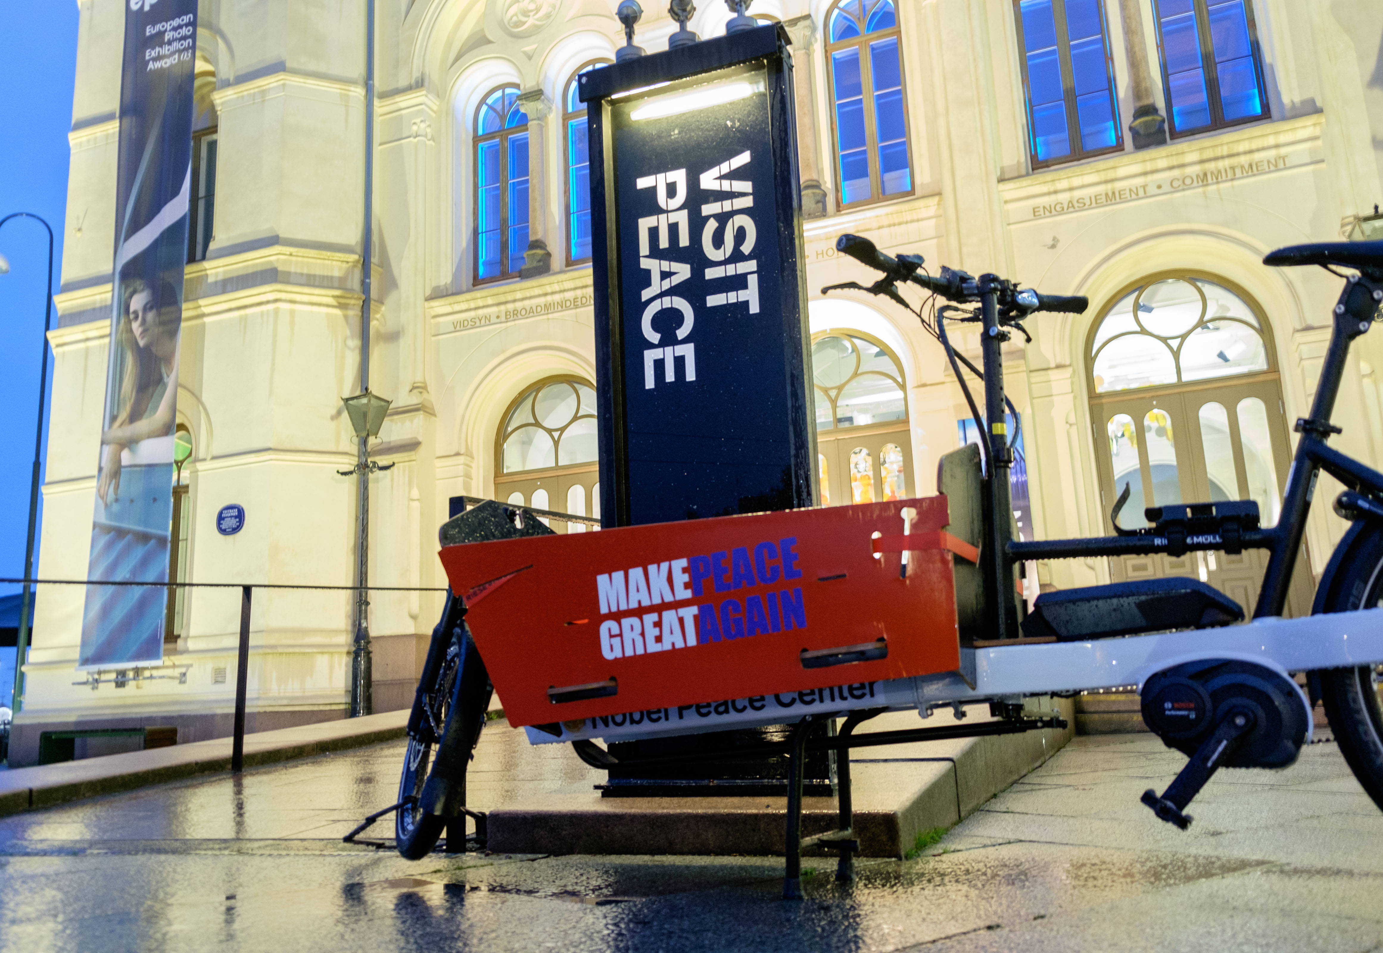
[[[89,580],[167,582],[196,0],[127,0],[111,364]],[[89,585],[80,668],[158,663],[167,591]]]

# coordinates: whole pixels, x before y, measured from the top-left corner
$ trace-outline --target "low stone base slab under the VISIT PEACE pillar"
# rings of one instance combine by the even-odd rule
[[[950,827],[1033,770],[1075,736],[1072,725],[954,741],[855,748],[855,831],[863,856],[904,856],[918,835]],[[972,705],[969,719],[987,718]],[[950,722],[936,714],[935,723]],[[916,714],[882,715],[871,732],[917,728]],[[835,827],[833,798],[805,798],[804,833]],[[781,855],[786,798],[602,798],[589,784],[560,788],[490,812],[490,849],[502,853]]]

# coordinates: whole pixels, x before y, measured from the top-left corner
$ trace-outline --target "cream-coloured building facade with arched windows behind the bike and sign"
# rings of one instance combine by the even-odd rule
[[[369,578],[444,586],[454,497],[599,516],[585,113],[574,77],[624,43],[613,0],[379,0]],[[123,0],[80,0],[41,575],[87,570],[105,390]],[[968,409],[916,318],[864,295],[842,232],[928,267],[1086,295],[1007,351],[1021,533],[1111,530],[1142,506],[1257,499],[1271,520],[1337,279],[1268,250],[1373,234],[1383,7],[1372,0],[755,0],[792,39],[819,480],[841,505],[935,492]],[[723,32],[707,0],[690,26]],[[358,390],[364,0],[202,0],[178,426],[176,578],[350,585]],[[650,10],[636,41],[674,24]],[[1383,232],[1383,230],[1380,230]],[[978,353],[967,325],[953,340]],[[1383,463],[1383,340],[1354,349],[1337,443]],[[1337,490],[1322,477],[1318,502]],[[241,503],[245,528],[214,516]],[[563,531],[561,524],[555,528]],[[579,527],[575,527],[579,528]],[[1317,506],[1293,610],[1344,524]],[[1252,555],[1068,560],[1069,588],[1194,574],[1241,602]],[[185,678],[73,686],[79,588],[46,588],[15,762],[53,726],[224,734],[238,592],[170,603]],[[376,710],[409,704],[437,592],[376,592]],[[260,591],[250,728],[343,715],[351,595]]]

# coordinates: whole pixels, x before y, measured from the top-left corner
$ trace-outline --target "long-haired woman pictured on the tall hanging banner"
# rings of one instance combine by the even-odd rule
[[[111,503],[120,491],[120,452],[149,437],[173,433],[177,405],[178,331],[183,306],[169,282],[155,295],[141,278],[123,286],[124,307],[115,332],[123,351],[119,403],[101,432],[101,477],[97,495]]]

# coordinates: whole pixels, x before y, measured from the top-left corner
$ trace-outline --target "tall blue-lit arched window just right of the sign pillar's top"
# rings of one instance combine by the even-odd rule
[[[839,205],[913,191],[893,0],[837,0],[826,14]]]

